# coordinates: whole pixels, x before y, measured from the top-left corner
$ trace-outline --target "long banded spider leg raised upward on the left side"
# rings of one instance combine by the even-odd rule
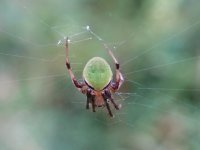
[[[70,62],[69,62],[69,40],[66,38],[66,43],[65,43],[65,49],[66,49],[66,67],[68,70],[68,73],[70,75],[70,78],[72,80],[72,83],[75,85],[75,87],[79,90],[82,91],[81,89],[85,85],[84,83],[78,82],[71,70]]]

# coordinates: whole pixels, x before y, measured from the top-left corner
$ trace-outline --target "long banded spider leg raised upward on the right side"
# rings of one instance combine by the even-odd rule
[[[113,62],[115,63],[116,76],[115,76],[115,82],[111,83],[111,87],[113,89],[113,92],[116,92],[120,88],[122,83],[124,82],[124,77],[119,70],[120,65],[119,65],[117,59],[115,58],[114,54],[112,53],[111,49],[106,44],[104,44],[104,47],[108,50],[109,55],[111,56]]]

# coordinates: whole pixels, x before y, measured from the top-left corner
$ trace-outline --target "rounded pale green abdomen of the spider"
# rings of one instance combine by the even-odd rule
[[[110,65],[101,57],[90,59],[83,70],[83,78],[97,91],[104,89],[112,80]]]

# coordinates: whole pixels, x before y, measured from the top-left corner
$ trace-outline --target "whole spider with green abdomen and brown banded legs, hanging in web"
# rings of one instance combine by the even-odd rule
[[[113,73],[110,68],[110,65],[101,57],[91,58],[85,65],[83,70],[83,79],[84,82],[79,82],[71,69],[69,62],[69,39],[66,38],[65,48],[66,48],[66,67],[72,83],[74,86],[83,94],[87,96],[86,109],[89,109],[90,105],[92,106],[92,111],[95,112],[96,107],[105,106],[108,110],[110,117],[114,117],[109,101],[113,104],[116,110],[121,108],[120,104],[116,104],[112,98],[112,94],[117,92],[122,85],[124,78],[122,73],[119,70],[119,63],[112,51],[105,45],[105,48],[108,49],[108,53],[111,56],[113,62],[116,66],[116,76],[115,81],[112,80]]]

